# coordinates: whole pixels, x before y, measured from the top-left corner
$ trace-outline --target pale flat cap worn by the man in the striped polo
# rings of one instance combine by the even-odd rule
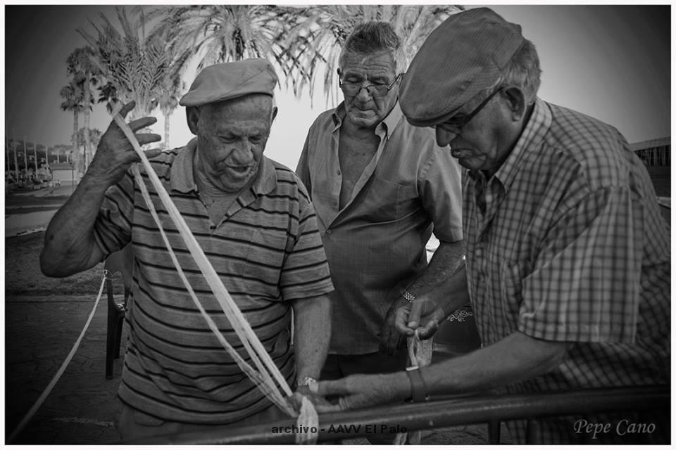
[[[268,60],[251,58],[204,68],[182,96],[180,105],[199,106],[248,94],[273,95],[277,74]]]

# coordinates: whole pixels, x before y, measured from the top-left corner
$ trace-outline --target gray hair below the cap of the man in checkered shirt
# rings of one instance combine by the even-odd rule
[[[514,53],[500,77],[493,86],[485,90],[486,94],[492,92],[497,86],[516,84],[523,91],[526,104],[530,105],[535,101],[540,88],[540,74],[542,70],[540,70],[537,50],[531,41],[524,39],[523,44]]]

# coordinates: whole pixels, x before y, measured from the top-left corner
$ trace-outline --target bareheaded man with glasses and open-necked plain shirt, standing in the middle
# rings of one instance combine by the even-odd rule
[[[315,120],[296,169],[336,288],[322,379],[402,370],[405,338],[394,312],[439,292],[463,264],[461,169],[432,129],[401,114],[404,70],[392,25],[356,27],[339,59],[344,102]],[[427,264],[432,228],[441,244]]]

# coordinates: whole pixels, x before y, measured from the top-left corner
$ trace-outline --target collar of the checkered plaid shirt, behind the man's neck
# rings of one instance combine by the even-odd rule
[[[516,145],[498,171],[495,173],[496,179],[499,179],[505,189],[514,180],[519,162],[530,148],[537,148],[544,139],[547,131],[551,127],[551,111],[546,103],[539,98],[535,99],[535,106],[530,119],[523,129]]]

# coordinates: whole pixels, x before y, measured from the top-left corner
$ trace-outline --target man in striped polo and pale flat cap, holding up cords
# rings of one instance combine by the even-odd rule
[[[276,83],[272,67],[260,59],[204,69],[180,101],[196,139],[147,154],[156,155],[151,165],[282,375],[306,391],[306,380],[319,377],[326,356],[333,287],[303,184],[263,156],[277,113]],[[132,108],[128,103],[121,115]],[[129,125],[137,131],[154,122],[144,117]],[[141,144],[159,139],[136,136]],[[46,275],[68,276],[132,245],[130,336],[119,390],[123,439],[282,418],[221,347],[177,276],[134,186],[129,169],[138,159],[111,123],[87,174],[49,224],[42,254]],[[189,282],[225,338],[241,347],[152,191]]]

